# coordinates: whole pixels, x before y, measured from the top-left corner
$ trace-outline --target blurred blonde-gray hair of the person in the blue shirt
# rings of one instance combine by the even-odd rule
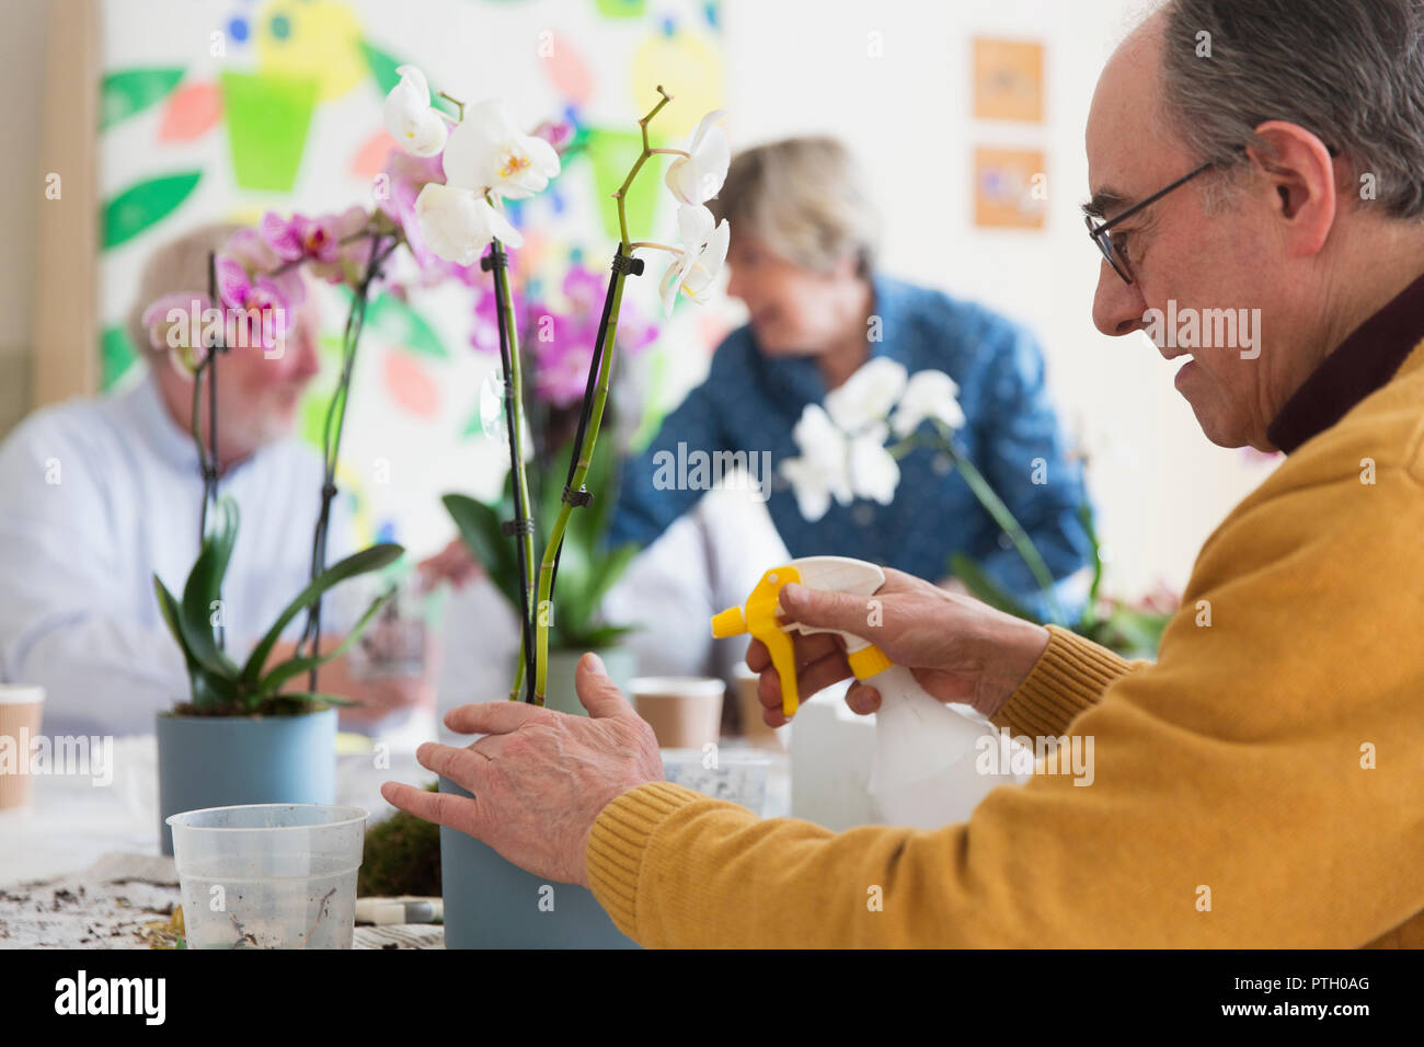
[[[876,215],[850,151],[829,135],[783,138],[743,150],[708,208],[795,262],[817,272],[856,259],[869,276]]]

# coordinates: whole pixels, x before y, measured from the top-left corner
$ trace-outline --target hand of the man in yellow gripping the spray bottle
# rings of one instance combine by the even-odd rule
[[[871,598],[879,601],[874,614],[869,604]],[[1048,630],[1042,625],[890,568],[874,597],[789,584],[782,588],[780,605],[787,621],[844,630],[869,640],[891,661],[909,667],[920,687],[940,701],[973,705],[985,717],[994,715],[1028,678],[1038,655],[1048,647]],[[852,675],[840,637],[793,632],[792,638],[802,695],[812,695]],[[786,722],[780,678],[772,668],[770,652],[759,640],[746,648],[746,664],[762,674],[758,694],[766,724],[780,726]],[[846,704],[854,712],[867,715],[880,708],[880,694],[873,687],[856,684],[846,692]]]

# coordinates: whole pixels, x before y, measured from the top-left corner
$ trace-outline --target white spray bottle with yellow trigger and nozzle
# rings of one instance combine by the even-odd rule
[[[787,719],[799,705],[796,654],[789,632],[834,632],[846,642],[846,660],[856,679],[880,692],[876,714],[876,758],[870,793],[881,816],[893,825],[938,829],[961,821],[965,796],[977,802],[984,782],[975,771],[980,738],[995,739],[994,726],[970,719],[924,691],[904,665],[896,665],[864,637],[842,630],[783,624],[780,590],[787,583],[807,588],[852,593],[867,600],[884,584],[874,564],[839,556],[815,556],[773,567],[752,590],[743,607],[729,607],[712,618],[712,635],[750,632],[766,644],[782,682],[782,711]],[[867,632],[873,624],[867,605]],[[971,709],[965,712],[977,715]]]

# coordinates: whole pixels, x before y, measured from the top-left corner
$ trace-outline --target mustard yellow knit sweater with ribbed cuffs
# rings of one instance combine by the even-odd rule
[[[1155,664],[1051,634],[995,724],[1092,736],[1091,785],[842,833],[644,785],[594,895],[654,947],[1424,946],[1424,343],[1208,538]]]

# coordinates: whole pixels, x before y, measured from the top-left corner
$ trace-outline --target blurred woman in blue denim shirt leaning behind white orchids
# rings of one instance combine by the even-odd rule
[[[946,372],[960,387],[957,433],[1038,547],[1055,578],[1084,566],[1082,483],[1065,460],[1044,387],[1044,363],[1022,328],[971,302],[911,286],[876,268],[874,218],[846,150],[832,138],[789,138],[736,157],[713,214],[728,218],[728,293],[750,323],[718,348],[708,379],[662,423],[624,473],[614,541],[651,544],[702,491],[669,489],[659,463],[689,452],[746,452],[750,462],[800,456],[793,427],[867,360]],[[832,504],[806,519],[772,479],[768,509],[792,556],[836,553],[921,578],[948,574],[963,553],[1040,613],[1040,587],[950,460],[920,447],[900,460],[889,506]],[[759,473],[753,477],[765,483]],[[763,564],[765,567],[765,564]]]

